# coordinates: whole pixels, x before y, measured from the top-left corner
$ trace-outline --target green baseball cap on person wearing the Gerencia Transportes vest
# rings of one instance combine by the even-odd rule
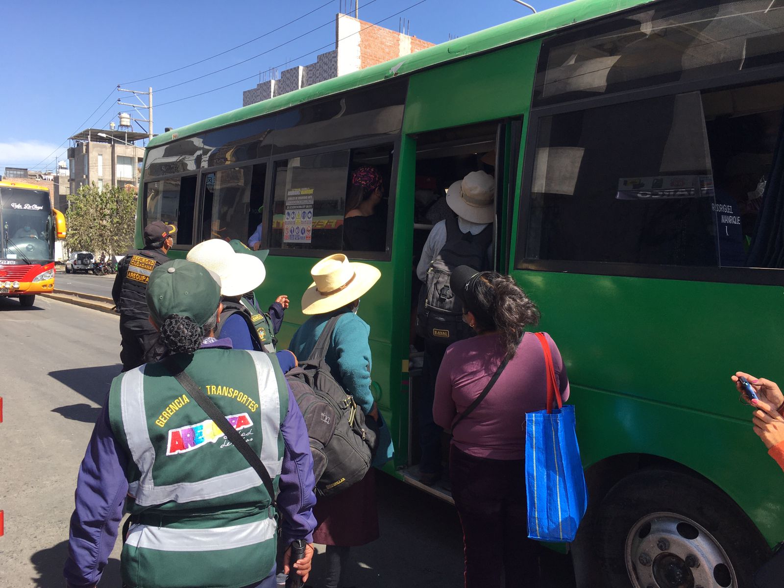
[[[147,282],[147,306],[158,325],[172,314],[191,318],[200,327],[220,304],[220,278],[188,260],[156,267]]]

